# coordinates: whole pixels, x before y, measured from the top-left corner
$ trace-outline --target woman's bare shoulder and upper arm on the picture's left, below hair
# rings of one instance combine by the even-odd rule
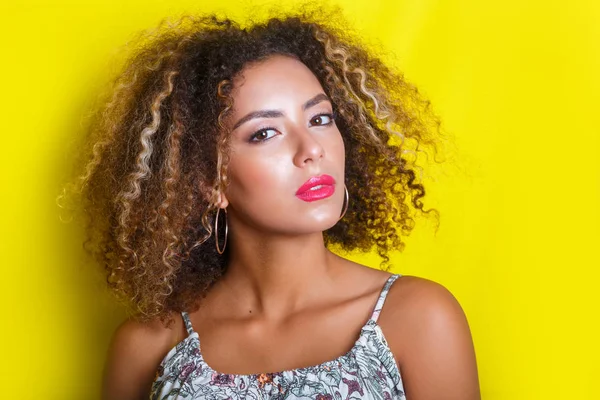
[[[103,399],[147,399],[158,365],[184,337],[181,319],[170,327],[159,320],[124,321],[113,334],[103,377]]]

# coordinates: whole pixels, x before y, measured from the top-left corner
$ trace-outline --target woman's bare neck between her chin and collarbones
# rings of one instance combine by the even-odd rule
[[[339,257],[327,250],[321,232],[244,235],[232,237],[228,246],[229,265],[219,286],[230,298],[227,308],[240,316],[284,319],[322,301],[341,273]]]

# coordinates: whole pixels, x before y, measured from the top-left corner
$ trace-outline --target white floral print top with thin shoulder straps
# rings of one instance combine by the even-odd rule
[[[233,375],[211,369],[200,352],[198,333],[183,312],[189,335],[162,360],[150,399],[406,400],[400,370],[377,325],[390,286],[399,276],[388,278],[352,349],[334,360],[289,371]]]

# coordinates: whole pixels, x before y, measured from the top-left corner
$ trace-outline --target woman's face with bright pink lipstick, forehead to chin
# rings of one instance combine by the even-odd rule
[[[234,225],[281,234],[335,225],[344,201],[344,142],[313,73],[296,59],[273,56],[246,67],[232,97],[222,206]]]

